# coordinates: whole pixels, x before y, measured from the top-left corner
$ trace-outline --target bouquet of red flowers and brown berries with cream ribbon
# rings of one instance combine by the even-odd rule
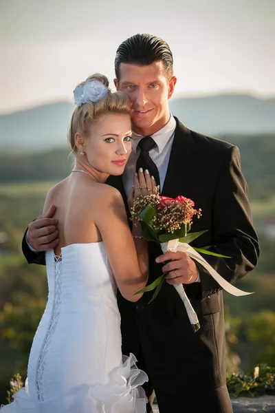
[[[155,188],[151,195],[140,196],[135,200],[131,208],[131,220],[137,220],[142,226],[144,237],[150,242],[156,242],[161,246],[162,252],[167,251],[184,251],[189,257],[200,262],[208,272],[216,279],[216,281],[229,293],[233,295],[249,295],[245,291],[239,290],[228,283],[221,275],[201,257],[199,253],[214,255],[216,257],[230,258],[226,255],[221,255],[209,251],[210,246],[204,248],[191,247],[190,242],[201,236],[208,230],[190,233],[192,226],[192,218],[201,217],[201,209],[195,209],[195,203],[184,196],[177,198],[168,198],[159,195],[159,187]],[[155,290],[149,304],[157,297],[162,284],[165,281],[167,273],[162,274],[155,281],[137,291],[136,294],[146,293]],[[195,310],[192,308],[190,301],[184,291],[182,284],[174,285],[179,297],[184,302],[186,311],[190,320],[190,324],[194,332],[199,330],[199,320]]]

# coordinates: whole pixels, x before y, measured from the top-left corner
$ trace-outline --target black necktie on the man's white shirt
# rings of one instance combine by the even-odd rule
[[[150,175],[153,175],[155,182],[159,185],[159,171],[157,170],[157,165],[155,165],[155,162],[149,155],[149,151],[155,146],[155,140],[153,140],[151,136],[144,136],[144,138],[138,142],[137,146],[140,147],[140,156],[137,158],[136,171],[140,168],[144,171],[148,169]]]

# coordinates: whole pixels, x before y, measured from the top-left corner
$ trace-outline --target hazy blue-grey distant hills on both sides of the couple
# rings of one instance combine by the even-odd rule
[[[212,136],[275,133],[275,99],[221,95],[170,100],[170,110],[190,129]],[[41,105],[0,116],[0,150],[41,151],[64,147],[74,105]]]

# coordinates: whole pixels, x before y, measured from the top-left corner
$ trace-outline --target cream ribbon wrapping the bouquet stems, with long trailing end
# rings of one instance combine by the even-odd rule
[[[190,258],[199,262],[202,266],[204,266],[204,268],[206,268],[208,273],[212,275],[212,277],[217,281],[217,283],[228,293],[232,295],[236,295],[237,297],[241,297],[242,295],[253,294],[253,293],[246,293],[245,291],[239,290],[239,288],[232,286],[232,284],[230,284],[229,282],[226,281],[226,279],[221,277],[221,275],[219,275],[217,271],[215,271],[214,268],[212,268],[212,266],[210,266],[208,262],[204,260],[204,258],[201,257],[201,255],[199,255],[197,251],[195,251],[194,248],[192,248],[192,246],[185,244],[183,242],[179,242],[179,240],[170,240],[169,242],[162,242],[161,246],[162,246],[163,253],[166,253],[168,251],[173,251],[173,252],[183,251]],[[174,284],[174,287],[177,290],[179,297],[181,297],[181,300],[184,302],[184,306],[186,308],[190,323],[193,326],[196,324],[199,325],[197,314],[195,313],[194,308],[192,308],[192,305],[190,304],[190,301],[184,290],[184,286],[182,284],[176,284],[176,285]]]

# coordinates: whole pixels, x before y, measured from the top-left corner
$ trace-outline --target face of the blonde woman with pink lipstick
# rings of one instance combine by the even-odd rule
[[[103,115],[85,139],[89,165],[101,173],[121,175],[132,150],[131,134],[129,115]]]

